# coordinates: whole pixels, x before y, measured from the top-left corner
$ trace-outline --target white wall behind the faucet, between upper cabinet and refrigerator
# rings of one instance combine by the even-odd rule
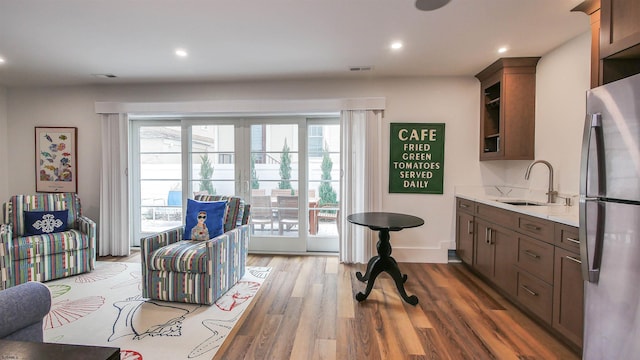
[[[585,33],[544,55],[536,69],[535,159],[547,160],[553,165],[554,189],[561,193],[579,191],[580,147],[586,91],[590,88],[590,52],[591,35]],[[536,165],[530,180],[526,181],[524,173],[531,161],[488,163],[498,163],[483,166],[503,170],[506,184],[547,189],[549,173],[543,165]]]

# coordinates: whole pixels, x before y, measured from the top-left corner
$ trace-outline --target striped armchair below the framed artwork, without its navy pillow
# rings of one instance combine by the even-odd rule
[[[28,235],[26,211],[68,210],[67,229]],[[48,281],[94,269],[96,223],[82,216],[74,193],[14,195],[3,204],[0,289]]]

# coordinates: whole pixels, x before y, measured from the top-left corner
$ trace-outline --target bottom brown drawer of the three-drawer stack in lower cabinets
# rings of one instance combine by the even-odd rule
[[[527,309],[551,324],[553,286],[519,271],[516,297]]]

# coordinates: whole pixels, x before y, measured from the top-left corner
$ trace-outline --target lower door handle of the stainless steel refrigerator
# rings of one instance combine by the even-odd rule
[[[590,212],[595,205],[596,219],[592,223]],[[602,247],[604,244],[605,204],[597,198],[580,199],[580,258],[582,259],[582,278],[598,283]],[[591,226],[595,225],[595,229]]]

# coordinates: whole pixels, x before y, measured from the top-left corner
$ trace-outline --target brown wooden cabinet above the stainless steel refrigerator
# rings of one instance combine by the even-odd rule
[[[640,73],[640,0],[586,0],[591,17],[591,87]]]

